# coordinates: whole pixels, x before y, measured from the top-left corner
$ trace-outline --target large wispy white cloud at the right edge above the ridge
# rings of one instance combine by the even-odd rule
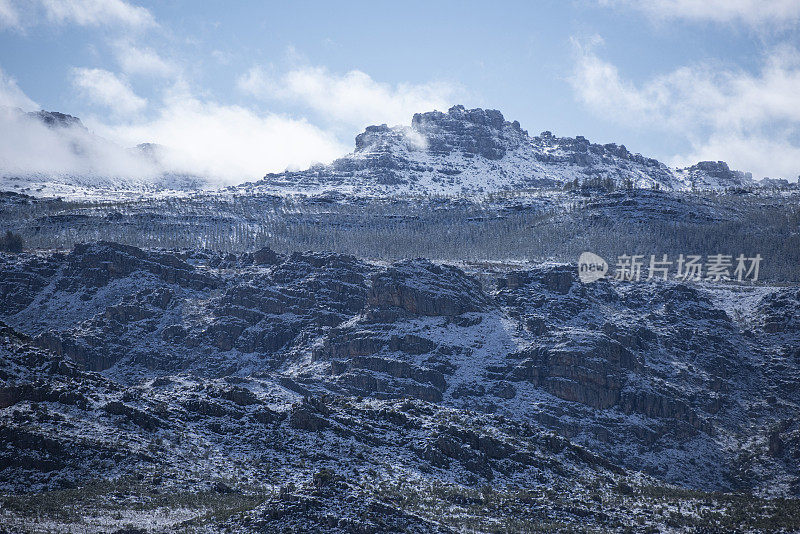
[[[757,176],[795,178],[800,147],[800,52],[766,54],[758,72],[692,65],[642,84],[625,80],[594,51],[601,41],[575,43],[572,86],[579,100],[609,120],[634,128],[661,128],[687,139],[688,155],[674,162],[724,159]]]

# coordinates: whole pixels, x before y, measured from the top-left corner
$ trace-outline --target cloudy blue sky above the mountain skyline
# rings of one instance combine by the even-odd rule
[[[80,117],[111,142],[97,172],[146,172],[110,147],[154,142],[237,183],[454,104],[794,181],[800,0],[0,0],[0,106]],[[47,132],[0,122],[0,167],[75,170]]]

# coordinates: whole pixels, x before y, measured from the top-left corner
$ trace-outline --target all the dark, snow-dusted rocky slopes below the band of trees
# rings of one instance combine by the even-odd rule
[[[46,490],[162,531],[798,527],[796,287],[114,243],[0,261],[11,518]]]

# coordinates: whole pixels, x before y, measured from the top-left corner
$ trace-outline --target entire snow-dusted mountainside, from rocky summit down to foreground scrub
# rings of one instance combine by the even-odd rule
[[[0,192],[0,531],[798,531],[800,192],[747,184],[455,107],[230,190]]]

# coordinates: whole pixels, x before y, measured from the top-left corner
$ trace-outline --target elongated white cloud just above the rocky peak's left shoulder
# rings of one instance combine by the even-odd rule
[[[459,88],[447,83],[391,85],[358,70],[334,74],[322,67],[297,68],[281,75],[253,67],[237,84],[247,94],[297,102],[359,127],[380,122],[407,124],[414,113],[447,109],[462,96]]]

